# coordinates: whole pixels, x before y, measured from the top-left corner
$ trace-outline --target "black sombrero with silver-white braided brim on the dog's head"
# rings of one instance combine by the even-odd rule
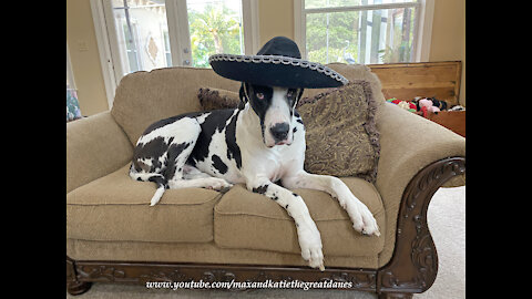
[[[273,38],[256,55],[214,54],[208,63],[221,76],[257,85],[325,89],[349,82],[330,68],[303,60],[297,44],[285,37]]]

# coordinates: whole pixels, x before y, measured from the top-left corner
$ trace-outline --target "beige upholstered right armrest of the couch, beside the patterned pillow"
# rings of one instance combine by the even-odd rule
[[[379,256],[382,267],[393,254],[397,217],[407,185],[429,164],[466,157],[466,138],[390,103],[379,106],[376,122],[380,158],[375,186],[383,202],[387,224],[385,249]]]

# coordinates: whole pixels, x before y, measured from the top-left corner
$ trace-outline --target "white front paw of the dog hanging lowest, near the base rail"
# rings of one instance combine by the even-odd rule
[[[318,229],[300,228],[297,234],[303,259],[307,260],[311,268],[319,268],[324,271],[324,252],[321,251],[321,237]]]

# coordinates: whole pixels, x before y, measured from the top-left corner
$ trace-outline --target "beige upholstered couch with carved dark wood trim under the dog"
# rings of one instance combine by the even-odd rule
[[[380,159],[374,184],[341,178],[374,213],[380,237],[352,229],[329,195],[296,190],[324,243],[325,271],[301,258],[291,218],[273,200],[235,185],[221,194],[168,189],[150,207],[153,183],[127,171],[141,133],[153,122],[200,111],[200,87],[237,91],[211,69],[170,68],[124,76],[111,111],[66,124],[66,280],[71,293],[91,282],[191,280],[350,281],[382,298],[428,289],[438,257],[427,227],[432,194],[463,182],[466,140],[385,103],[362,65],[330,64],[349,80],[370,81],[379,101]],[[306,90],[310,96],[320,90]],[[448,182],[449,183],[449,182]]]

